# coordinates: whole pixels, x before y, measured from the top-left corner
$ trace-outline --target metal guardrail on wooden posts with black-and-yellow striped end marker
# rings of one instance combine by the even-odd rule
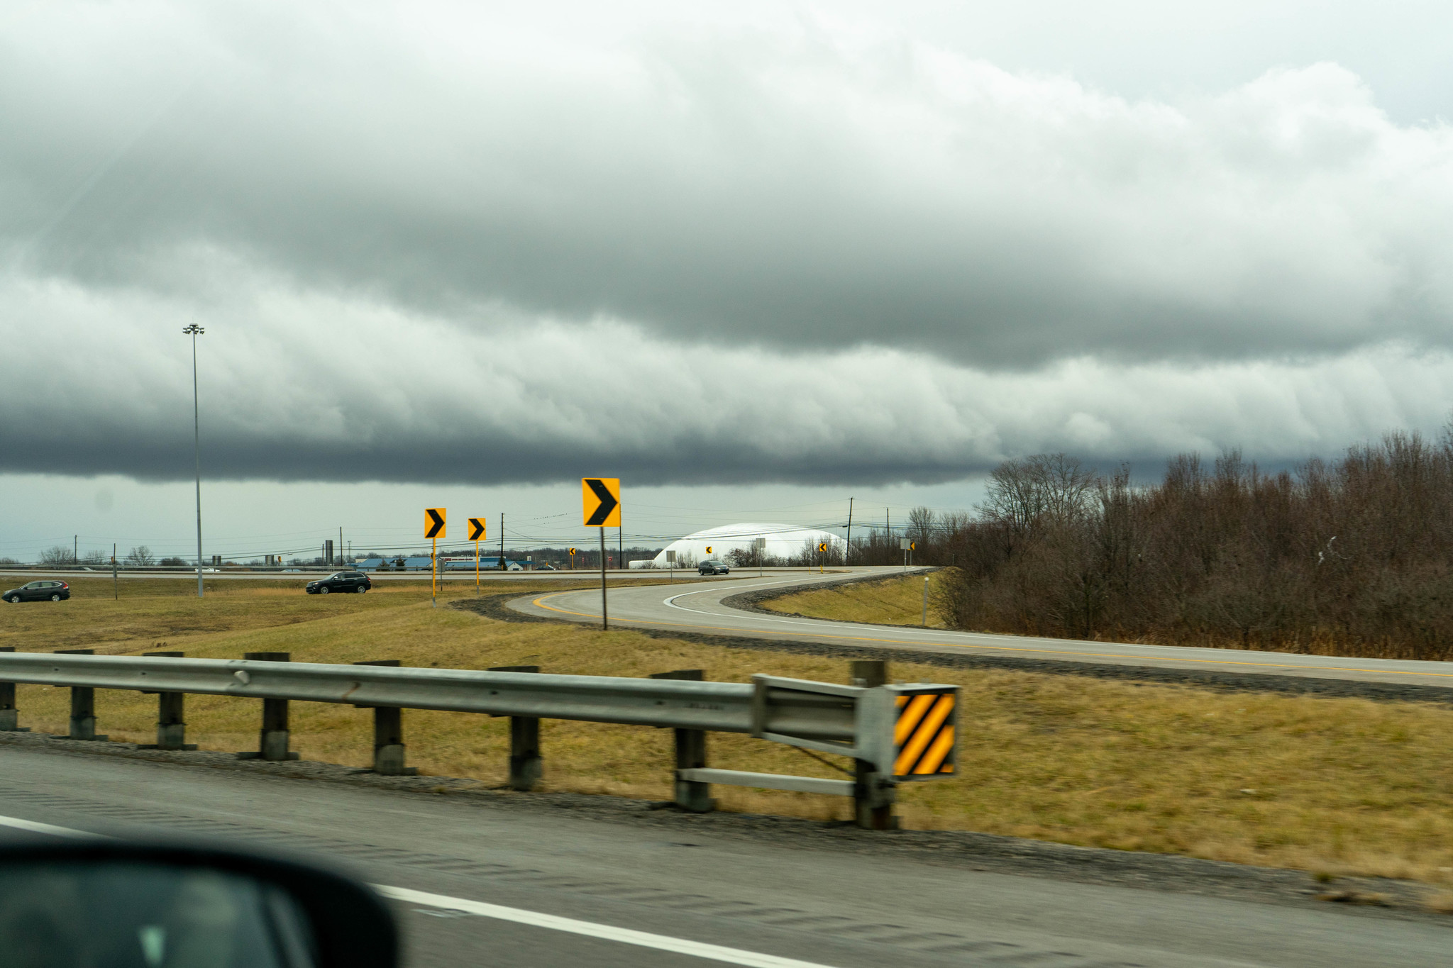
[[[186,659],[182,653],[96,656],[90,650],[25,653],[0,649],[0,731],[20,730],[15,684],[71,689],[70,739],[96,733],[94,691],[158,695],[154,749],[186,743],[183,697],[232,695],[263,704],[257,750],[244,758],[286,760],[288,702],[340,702],[372,708],[373,769],[404,765],[402,710],[443,710],[510,717],[510,787],[530,789],[541,776],[541,720],[584,720],[676,730],[677,805],[713,808],[711,784],[850,795],[859,826],[894,826],[894,787],[953,772],[956,691],[952,685],[888,685],[886,663],[854,662],[856,685],[757,675],[750,684],[706,682],[699,669],[649,679],[541,673],[536,666],[466,669],[400,668],[397,662],[324,665],[289,662],[288,653],[244,659]],[[779,776],[711,769],[706,733],[745,733],[776,743],[853,759],[851,779]]]

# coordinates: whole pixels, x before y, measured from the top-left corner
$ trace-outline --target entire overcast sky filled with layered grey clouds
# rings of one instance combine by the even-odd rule
[[[551,528],[583,475],[645,538],[966,508],[1046,450],[1154,473],[1437,432],[1450,29],[1408,1],[6,4],[0,556],[185,543],[190,322],[219,553],[411,538],[436,493],[578,540]]]

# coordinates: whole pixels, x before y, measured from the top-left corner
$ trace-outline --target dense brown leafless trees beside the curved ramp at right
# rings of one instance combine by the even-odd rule
[[[915,560],[950,566],[936,605],[958,628],[1453,659],[1447,431],[1276,473],[1180,454],[1151,485],[1036,454],[992,472],[978,514],[914,514]],[[853,560],[901,560],[889,546],[875,533]]]

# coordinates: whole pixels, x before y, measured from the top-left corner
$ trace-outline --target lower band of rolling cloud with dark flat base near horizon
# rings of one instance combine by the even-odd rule
[[[222,271],[214,268],[212,271]],[[203,266],[199,274],[208,274]],[[0,357],[4,470],[185,479],[199,340],[208,477],[507,483],[933,483],[1005,456],[1149,460],[1242,444],[1335,451],[1436,427],[1453,356],[1385,348],[1316,363],[1032,373],[927,354],[782,354],[668,343],[628,324],[509,313],[488,332],[246,277],[227,311],[10,283],[49,321],[44,354]],[[44,358],[44,366],[36,360]]]

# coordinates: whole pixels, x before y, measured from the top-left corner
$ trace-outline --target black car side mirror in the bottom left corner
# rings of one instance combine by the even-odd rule
[[[125,840],[0,848],[0,952],[15,968],[395,968],[369,887],[311,865]]]

